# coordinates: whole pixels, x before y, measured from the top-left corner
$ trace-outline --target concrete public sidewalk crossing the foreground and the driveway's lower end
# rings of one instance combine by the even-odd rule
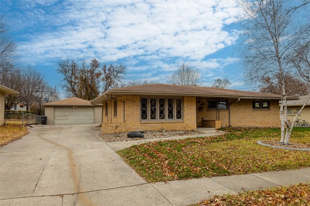
[[[33,196],[0,201],[0,205],[46,206],[186,206],[209,199],[215,194],[237,194],[242,191],[289,186],[310,181],[310,168],[250,175],[211,177],[169,182],[142,183],[107,190],[73,194]]]

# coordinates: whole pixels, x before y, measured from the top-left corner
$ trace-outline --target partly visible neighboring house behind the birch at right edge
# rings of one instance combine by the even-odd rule
[[[308,95],[299,97],[299,100],[287,101],[287,119],[293,122],[295,116],[301,109],[302,105],[306,102]],[[305,108],[298,116],[298,122],[300,124],[307,122],[310,123],[310,101],[306,104]]]

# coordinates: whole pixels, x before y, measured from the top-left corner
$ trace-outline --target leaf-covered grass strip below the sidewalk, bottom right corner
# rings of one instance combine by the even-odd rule
[[[247,191],[238,195],[215,196],[196,206],[309,206],[310,184],[300,183],[261,191]]]

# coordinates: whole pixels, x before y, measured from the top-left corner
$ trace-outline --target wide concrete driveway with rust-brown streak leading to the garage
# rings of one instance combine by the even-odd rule
[[[97,126],[37,125],[1,147],[0,205],[169,204],[100,139]]]

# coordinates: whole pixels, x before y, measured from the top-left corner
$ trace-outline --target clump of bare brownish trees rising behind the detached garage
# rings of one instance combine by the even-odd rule
[[[101,93],[101,85],[103,92],[110,88],[124,87],[122,79],[126,68],[113,64],[100,67],[97,59],[92,59],[89,66],[84,60],[78,65],[75,60],[65,59],[59,61],[57,71],[63,76],[61,84],[68,97],[93,100]]]

